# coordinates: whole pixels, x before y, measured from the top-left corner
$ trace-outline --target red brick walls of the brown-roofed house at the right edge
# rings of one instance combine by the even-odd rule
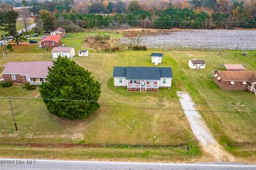
[[[219,72],[214,72],[213,75],[218,74],[218,77],[221,77]],[[218,78],[217,77],[217,78]],[[248,86],[251,86],[250,82],[246,82],[245,86],[242,86],[242,81],[235,81],[233,86],[230,86],[230,81],[223,81],[222,77],[221,80],[217,80],[217,78],[213,77],[213,81],[219,85],[222,90],[247,90]]]

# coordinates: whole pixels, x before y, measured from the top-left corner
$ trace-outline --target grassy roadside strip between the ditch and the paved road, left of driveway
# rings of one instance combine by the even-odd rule
[[[69,160],[106,160],[129,162],[198,162],[211,161],[201,157],[199,150],[186,148],[147,149],[147,148],[51,148],[1,146],[0,157],[36,158],[36,159],[69,159]]]

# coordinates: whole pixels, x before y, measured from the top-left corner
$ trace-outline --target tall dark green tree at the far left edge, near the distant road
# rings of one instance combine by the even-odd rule
[[[6,12],[3,16],[3,21],[0,23],[0,30],[8,32],[9,36],[12,36],[13,40],[17,45],[19,45],[19,40],[22,36],[22,33],[17,32],[16,22],[19,17],[19,14],[15,11]]]

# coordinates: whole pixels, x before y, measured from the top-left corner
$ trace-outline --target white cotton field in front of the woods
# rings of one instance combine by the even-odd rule
[[[123,37],[121,45],[141,45],[156,49],[256,49],[256,31],[254,30],[189,30]]]

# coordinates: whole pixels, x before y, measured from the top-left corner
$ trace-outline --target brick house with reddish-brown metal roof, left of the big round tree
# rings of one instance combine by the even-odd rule
[[[46,82],[48,68],[53,63],[51,61],[36,62],[8,62],[2,72],[4,81],[13,83],[26,83],[40,85]]]

